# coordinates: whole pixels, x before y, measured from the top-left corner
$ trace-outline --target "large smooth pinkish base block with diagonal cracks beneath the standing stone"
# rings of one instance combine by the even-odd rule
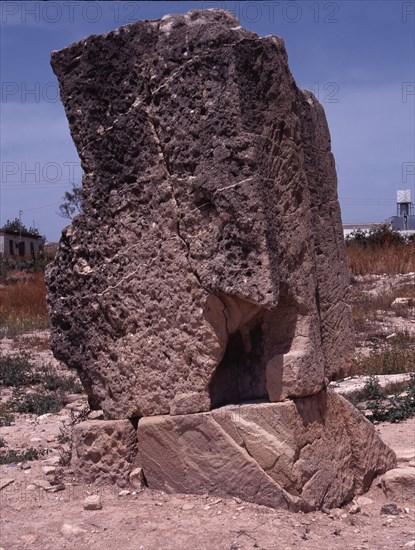
[[[343,397],[143,418],[139,461],[150,488],[239,496],[272,507],[335,507],[368,490],[396,456]]]

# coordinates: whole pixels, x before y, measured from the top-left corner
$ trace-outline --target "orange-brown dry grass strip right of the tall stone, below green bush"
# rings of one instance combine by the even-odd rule
[[[353,275],[411,273],[415,271],[415,241],[409,244],[386,244],[379,248],[349,242],[347,258]]]

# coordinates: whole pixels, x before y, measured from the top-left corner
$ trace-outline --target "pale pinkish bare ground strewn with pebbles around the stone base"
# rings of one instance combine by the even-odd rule
[[[402,284],[407,282],[405,279]],[[370,292],[373,281],[359,284]],[[373,334],[386,338],[397,325],[415,332],[410,312],[403,317],[382,317],[378,312],[371,317],[366,343],[360,338],[360,347],[370,349]],[[47,332],[0,342],[2,355],[20,351],[30,353],[38,367],[47,363],[62,369],[49,350]],[[363,383],[360,378],[346,380],[336,383],[336,391],[349,393]],[[10,389],[2,388],[0,394],[4,402]],[[38,460],[0,466],[0,550],[415,548],[414,418],[376,425],[382,439],[395,450],[398,469],[377,478],[367,494],[341,509],[304,514],[234,498],[167,495],[81,483],[70,465],[61,465],[67,445],[59,436],[62,427],[85,410],[86,398],[67,395],[65,402],[56,414],[16,414],[12,425],[0,428],[3,456],[8,449],[30,447],[44,453]],[[91,495],[100,496],[101,509],[84,509],[85,498]]]

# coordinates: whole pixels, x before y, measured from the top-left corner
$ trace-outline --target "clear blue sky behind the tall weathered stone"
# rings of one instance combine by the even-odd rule
[[[7,2],[1,9],[0,225],[22,210],[49,240],[82,172],[50,68],[52,50],[137,19],[219,7],[284,38],[291,71],[323,104],[345,223],[382,221],[414,181],[415,2]],[[415,199],[413,199],[415,200]]]

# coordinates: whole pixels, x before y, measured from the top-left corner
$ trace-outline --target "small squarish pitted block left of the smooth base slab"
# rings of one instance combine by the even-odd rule
[[[86,483],[128,485],[137,453],[136,432],[129,420],[87,420],[72,435],[71,467]]]

